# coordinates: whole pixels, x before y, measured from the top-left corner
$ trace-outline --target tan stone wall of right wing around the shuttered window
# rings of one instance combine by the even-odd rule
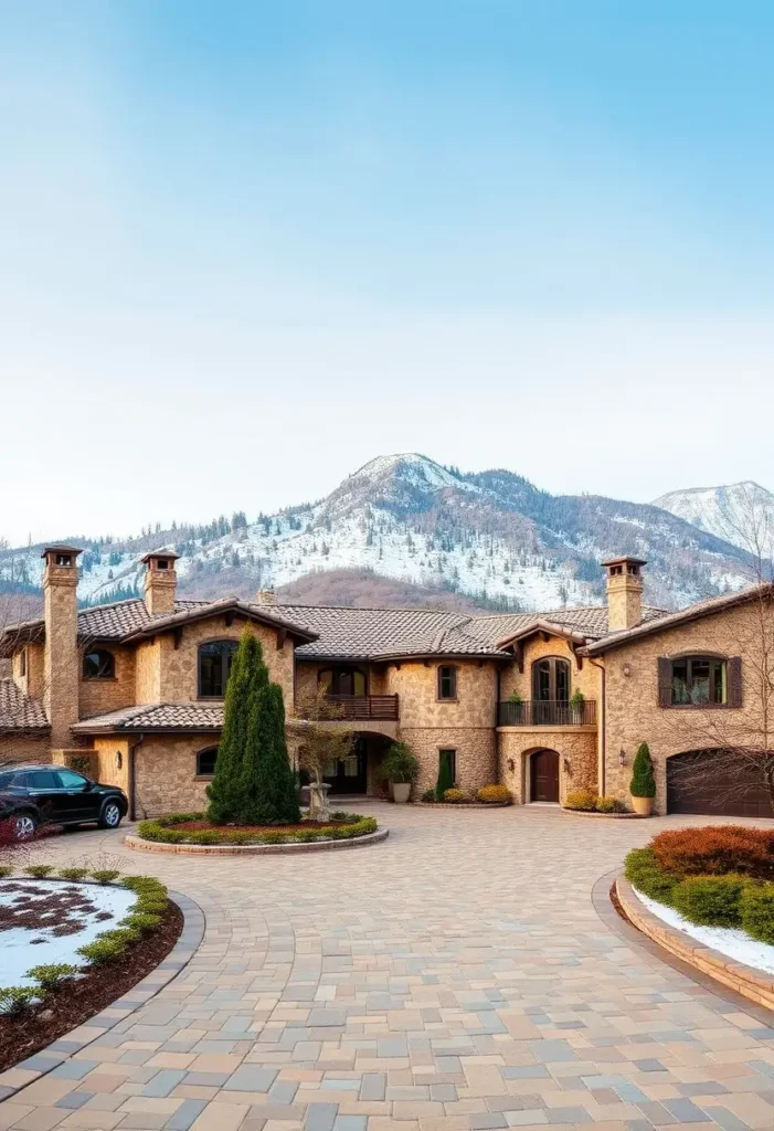
[[[771,633],[771,628],[768,629]],[[720,653],[742,657],[742,706],[733,708],[659,706],[658,659],[685,653]],[[606,791],[628,798],[632,762],[641,742],[647,742],[655,765],[655,810],[666,811],[666,760],[675,753],[708,746],[747,744],[749,728],[762,707],[754,689],[759,662],[757,606],[741,606],[676,627],[615,648],[605,656],[607,679]],[[628,666],[629,674],[625,674]],[[626,765],[619,765],[624,750]]]

